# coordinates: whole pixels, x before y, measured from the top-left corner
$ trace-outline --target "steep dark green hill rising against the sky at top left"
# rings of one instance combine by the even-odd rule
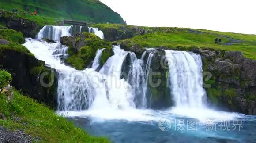
[[[6,11],[17,8],[19,13],[28,14],[38,11],[40,16],[55,19],[124,23],[120,14],[98,0],[1,0],[0,7]]]

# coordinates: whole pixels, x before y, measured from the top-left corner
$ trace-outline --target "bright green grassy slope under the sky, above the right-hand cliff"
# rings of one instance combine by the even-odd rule
[[[124,27],[131,25],[118,24],[98,24],[92,25],[100,29],[116,29],[122,31]],[[141,27],[147,34],[137,35],[131,39],[117,41],[117,43],[127,41],[138,44],[142,47],[166,46],[168,48],[190,47],[211,48],[217,50],[236,50],[244,53],[245,57],[256,59],[256,35],[239,34],[230,32],[218,32],[202,29],[185,29],[169,27]],[[215,38],[222,39],[222,44],[215,44]]]

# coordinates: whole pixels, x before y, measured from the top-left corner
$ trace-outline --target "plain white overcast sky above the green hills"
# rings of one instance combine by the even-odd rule
[[[100,0],[128,25],[256,34],[256,0]]]

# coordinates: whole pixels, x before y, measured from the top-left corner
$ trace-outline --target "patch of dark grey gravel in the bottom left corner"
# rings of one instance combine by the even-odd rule
[[[0,143],[32,143],[32,139],[33,138],[25,134],[24,131],[11,131],[0,127]]]

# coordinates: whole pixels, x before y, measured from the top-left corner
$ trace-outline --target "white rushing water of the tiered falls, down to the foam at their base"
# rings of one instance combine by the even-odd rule
[[[49,32],[52,28],[55,32]],[[68,31],[71,27],[53,26],[52,28],[46,26],[41,29],[38,33],[38,39],[49,36],[58,40],[60,36],[69,35]],[[202,63],[199,55],[166,50],[167,59],[175,59],[173,61],[168,60],[170,81],[171,83],[181,81],[181,83],[170,86],[176,107],[170,110],[154,111],[146,109],[148,107],[147,95],[149,94],[147,81],[153,53],[150,53],[145,59],[146,52],[144,52],[141,59],[137,59],[134,53],[124,51],[119,46],[113,46],[114,55],[109,57],[99,72],[96,72],[95,69],[98,68],[101,52],[104,50],[100,49],[96,54],[92,68],[77,71],[62,63],[61,57],[67,56],[67,47],[59,42],[46,43],[28,38],[24,46],[38,59],[45,61],[47,65],[58,71],[58,108],[59,111],[68,111],[67,115],[80,114],[81,116],[108,120],[125,119],[130,121],[157,121],[163,117],[172,118],[173,115],[200,120],[236,117],[230,113],[226,113],[226,116],[223,117],[222,113],[218,111],[203,110],[202,97],[205,93],[202,88]],[[124,79],[120,79],[120,75],[122,64],[128,53],[131,55],[132,64],[128,80],[124,81]],[[171,74],[177,70],[185,72],[176,73],[176,75]],[[193,84],[191,85],[191,83]],[[200,113],[189,114],[189,110],[191,113],[192,110],[200,111]]]

